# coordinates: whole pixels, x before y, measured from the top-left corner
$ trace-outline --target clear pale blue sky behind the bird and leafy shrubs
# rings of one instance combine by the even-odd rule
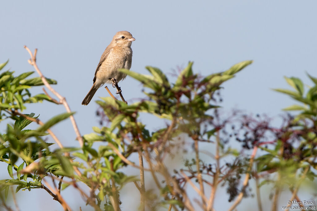
[[[307,84],[311,83],[306,71],[317,76],[316,6],[316,1],[308,0],[2,1],[0,63],[10,59],[5,69],[10,68],[16,75],[33,71],[23,45],[32,51],[38,48],[37,64],[42,73],[58,81],[54,88],[77,112],[74,117],[81,134],[91,133],[99,121],[94,101],[108,93],[100,88],[88,106],[81,102],[93,84],[101,54],[117,31],[126,30],[136,39],[132,43],[131,70],[139,73],[147,74],[145,66],[152,65],[170,74],[194,61],[194,72],[208,75],[253,59],[252,65],[224,84],[223,106],[277,116],[282,108],[294,103],[271,90],[288,88],[283,76],[299,77]],[[170,76],[170,81],[175,78]],[[128,102],[144,97],[142,86],[132,78],[119,85]],[[42,90],[31,92],[35,95]],[[30,105],[25,113],[30,112],[46,121],[65,109],[43,102]],[[146,118],[144,121],[152,124]],[[0,132],[4,129],[5,124],[1,124]],[[65,146],[79,146],[70,121],[61,122],[53,131]],[[6,165],[0,164],[0,168],[6,169]],[[0,176],[8,177],[6,171]],[[133,186],[127,190],[137,191]],[[19,194],[22,211],[43,210],[48,204],[49,210],[62,210],[44,190],[31,193]],[[75,210],[85,206],[78,195],[65,193]],[[125,199],[123,210],[138,206],[133,194]],[[230,206],[225,193],[220,193],[218,199],[217,210]],[[256,205],[256,200],[249,203]],[[238,210],[248,210],[245,207],[249,206],[244,203]]]

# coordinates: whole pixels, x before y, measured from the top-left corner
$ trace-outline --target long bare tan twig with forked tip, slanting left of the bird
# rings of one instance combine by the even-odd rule
[[[69,108],[69,105],[65,99],[65,97],[61,96],[57,91],[55,91],[52,86],[47,82],[46,78],[44,77],[44,75],[42,74],[42,72],[40,71],[40,69],[38,68],[37,64],[36,64],[36,53],[37,53],[37,49],[35,49],[34,51],[34,55],[33,53],[30,51],[30,49],[26,46],[24,46],[24,48],[29,52],[31,59],[28,60],[29,64],[32,65],[34,67],[34,69],[37,71],[37,73],[40,75],[43,84],[60,100],[60,103],[64,105],[66,111],[68,113],[71,113],[71,110]],[[77,136],[77,140],[79,141],[80,146],[82,147],[84,145],[84,141],[81,137],[81,134],[79,132],[79,129],[77,127],[76,121],[74,119],[74,116],[71,115],[70,117],[70,121],[72,122],[72,125],[74,127],[74,131],[76,133]]]

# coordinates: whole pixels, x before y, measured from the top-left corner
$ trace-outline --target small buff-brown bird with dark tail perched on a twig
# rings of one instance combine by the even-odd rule
[[[119,71],[121,68],[130,70],[132,63],[131,44],[135,40],[128,31],[117,32],[102,53],[99,64],[95,71],[93,86],[81,102],[82,105],[88,105],[96,91],[105,83],[113,83],[111,79],[115,78],[118,82],[126,78],[126,74]]]

